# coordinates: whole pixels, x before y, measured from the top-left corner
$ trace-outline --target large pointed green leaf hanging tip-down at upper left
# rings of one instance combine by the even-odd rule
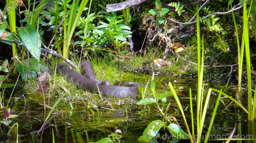
[[[30,24],[26,24],[25,27],[20,27],[18,32],[26,48],[39,61],[41,55],[41,39],[36,28]]]

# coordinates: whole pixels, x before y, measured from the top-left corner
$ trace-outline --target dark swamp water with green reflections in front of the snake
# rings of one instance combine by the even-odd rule
[[[143,76],[143,81],[141,77],[137,77],[136,75],[131,76],[134,77],[135,82],[141,83],[146,83],[147,80],[151,79],[150,76]],[[191,118],[188,107],[189,88],[192,88],[192,95],[195,97],[195,89],[197,86],[196,78],[191,75],[155,76],[154,81],[159,87],[168,88],[168,83],[172,82],[175,88],[183,89],[179,92],[179,99],[183,106],[183,110],[185,110],[186,118],[191,129]],[[218,85],[220,84],[215,83],[205,86],[205,93],[209,87],[218,89]],[[29,88],[27,84],[24,87]],[[224,86],[222,87],[224,88]],[[144,91],[145,87],[140,87],[139,89],[140,98],[136,101],[141,99],[141,91]],[[9,88],[4,91],[4,102],[7,102],[6,100],[9,99],[12,90],[13,89]],[[18,123],[19,125],[18,135],[20,143],[38,143],[39,140],[41,140],[42,143],[52,143],[53,135],[55,143],[96,142],[104,137],[108,137],[108,135],[115,132],[116,129],[122,131],[120,142],[135,143],[138,142],[137,139],[143,134],[144,129],[151,121],[163,119],[163,116],[156,108],[156,104],[145,106],[136,105],[136,101],[131,99],[100,99],[98,95],[84,94],[83,91],[78,90],[76,87],[73,87],[71,90],[72,92],[70,92],[70,94],[63,89],[59,89],[58,91],[50,90],[49,93],[45,93],[45,102],[46,105],[49,106],[45,106],[46,111],[44,111],[44,99],[42,95],[34,93],[25,94],[23,90],[15,90],[15,92],[12,93],[9,107],[14,111],[13,114],[18,115],[18,117],[12,118],[11,120],[12,124]],[[169,90],[156,89],[156,95],[160,95],[166,91]],[[224,91],[224,93],[234,97],[235,90],[232,89],[232,85],[227,88],[227,92]],[[51,107],[55,101],[58,100],[59,95],[64,96],[49,116],[50,121],[44,125],[44,130],[38,133],[44,124],[44,119],[47,118]],[[150,87],[147,88],[145,97],[153,97]],[[207,132],[216,99],[217,96],[212,93],[203,134],[206,134]],[[173,96],[168,97],[167,104],[169,102],[171,102],[171,106],[168,114],[177,118],[177,122],[186,132],[186,127],[177,107],[175,98]],[[230,99],[221,98],[213,129],[211,131],[211,135],[215,135],[215,139],[228,138],[228,135],[232,132],[235,124],[239,125],[239,128],[237,129],[239,129],[243,135],[246,135],[247,133],[247,114],[239,107],[230,103]],[[159,104],[160,107],[162,107],[161,102],[159,102]],[[195,100],[193,106],[195,112]],[[0,115],[2,118],[4,117],[2,113]],[[194,115],[194,118],[196,118],[196,115]],[[0,128],[2,132],[0,135],[0,143],[16,142],[15,137],[7,136],[9,130],[7,126],[1,126]],[[236,135],[238,135],[237,131],[235,132],[234,137],[236,137]],[[170,133],[167,130],[164,132],[163,129],[161,129],[157,141],[155,140],[154,143],[166,142],[166,138],[171,138]],[[180,140],[180,142],[189,143],[190,140]],[[221,142],[222,141],[219,141],[219,143]]]

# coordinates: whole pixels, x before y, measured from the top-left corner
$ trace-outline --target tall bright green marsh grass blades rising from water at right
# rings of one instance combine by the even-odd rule
[[[246,5],[246,3],[244,2],[244,5]],[[233,14],[233,18],[234,18],[234,14]],[[198,89],[197,89],[197,95],[196,95],[196,100],[197,100],[197,110],[196,110],[196,127],[194,126],[194,122],[195,122],[195,118],[193,117],[194,116],[194,113],[195,111],[193,111],[193,102],[192,100],[194,98],[192,98],[192,92],[191,92],[191,89],[190,89],[190,110],[191,110],[191,119],[192,119],[192,134],[190,132],[190,129],[189,129],[189,126],[187,124],[187,120],[186,120],[186,115],[184,114],[183,112],[183,108],[182,108],[182,105],[179,101],[179,98],[177,97],[176,93],[175,93],[175,90],[172,86],[171,83],[169,83],[169,86],[170,86],[170,89],[172,90],[172,93],[175,97],[175,100],[177,101],[177,104],[178,104],[178,107],[181,111],[181,114],[183,116],[183,120],[185,122],[185,125],[186,125],[186,128],[187,128],[187,131],[189,133],[189,137],[190,137],[190,140],[191,142],[197,142],[197,143],[200,143],[201,140],[201,135],[202,135],[202,131],[203,131],[203,126],[205,126],[205,117],[206,117],[206,113],[209,112],[207,111],[207,107],[209,105],[209,99],[210,99],[210,95],[212,93],[212,91],[215,91],[215,92],[218,92],[218,98],[216,100],[216,103],[215,103],[215,107],[214,107],[214,110],[212,112],[212,118],[210,119],[210,123],[209,123],[209,127],[208,127],[208,130],[207,130],[207,134],[206,134],[206,138],[204,140],[204,143],[207,143],[208,141],[208,137],[209,137],[209,134],[210,134],[210,131],[212,129],[212,125],[213,125],[213,121],[215,119],[215,115],[216,115],[216,112],[217,112],[217,108],[218,108],[218,105],[219,105],[219,101],[221,101],[221,95],[231,99],[236,105],[238,105],[241,109],[244,110],[245,113],[248,114],[248,135],[253,135],[253,138],[255,138],[255,125],[253,125],[253,120],[255,119],[255,102],[252,101],[252,90],[251,90],[251,77],[250,77],[250,50],[249,50],[249,38],[248,38],[248,23],[247,23],[247,9],[246,7],[244,7],[244,17],[243,17],[243,22],[244,22],[244,27],[243,27],[243,38],[242,38],[242,44],[241,44],[241,50],[240,50],[240,47],[239,47],[239,38],[237,38],[238,40],[238,51],[239,51],[239,72],[242,71],[242,63],[243,63],[243,52],[244,52],[244,47],[245,47],[245,53],[246,53],[246,63],[247,63],[247,84],[248,84],[248,110],[240,103],[240,95],[241,95],[241,73],[239,74],[239,91],[238,91],[238,95],[236,96],[237,99],[234,99],[232,98],[231,96],[225,94],[222,92],[222,90],[216,90],[216,89],[212,89],[212,88],[209,88],[208,92],[207,92],[207,95],[205,96],[204,94],[204,84],[203,84],[203,72],[204,72],[204,41],[202,40],[202,46],[201,46],[201,36],[200,36],[200,27],[199,27],[199,18],[198,18],[198,14],[197,14],[197,37],[198,37]],[[233,19],[234,22],[235,22],[235,18]],[[235,22],[235,27],[236,27],[236,22]],[[236,32],[237,32],[237,27],[236,27]],[[202,51],[202,53],[201,53]],[[240,53],[241,52],[241,53]],[[226,86],[227,88],[227,86]],[[255,95],[254,95],[254,101],[255,101]],[[252,122],[250,122],[252,121]],[[236,126],[234,127],[236,129]],[[241,125],[240,125],[240,128],[241,128]],[[239,129],[240,129],[239,128]],[[195,133],[195,129],[197,130],[197,132]],[[234,131],[235,129],[233,130],[233,133],[230,135],[232,136],[234,134]],[[241,134],[241,132],[240,132]],[[193,135],[197,135],[198,136],[198,140],[195,140],[193,139]],[[240,140],[240,139],[235,139],[235,140]],[[230,141],[230,138],[228,139],[227,142]],[[255,143],[255,140],[248,140],[252,143]]]

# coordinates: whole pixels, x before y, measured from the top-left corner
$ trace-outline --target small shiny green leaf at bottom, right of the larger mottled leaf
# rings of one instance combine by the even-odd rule
[[[175,123],[170,123],[167,129],[177,139],[189,139],[189,135]]]

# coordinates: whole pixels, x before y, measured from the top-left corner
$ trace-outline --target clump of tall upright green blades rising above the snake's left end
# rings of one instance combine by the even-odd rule
[[[55,7],[51,8],[49,12],[43,12],[43,14],[51,15],[51,17],[48,18],[50,22],[45,25],[52,25],[55,23],[55,46],[58,48],[58,53],[66,59],[68,59],[71,39],[75,28],[79,23],[79,19],[81,19],[82,12],[88,10],[88,14],[90,13],[90,6],[89,8],[85,8],[88,0],[73,0],[72,4],[70,4],[70,2],[71,0],[55,0]],[[63,34],[60,34],[59,36],[61,39],[57,36],[59,24],[62,25],[61,31],[63,32]],[[61,51],[60,40],[63,40],[63,51]]]

